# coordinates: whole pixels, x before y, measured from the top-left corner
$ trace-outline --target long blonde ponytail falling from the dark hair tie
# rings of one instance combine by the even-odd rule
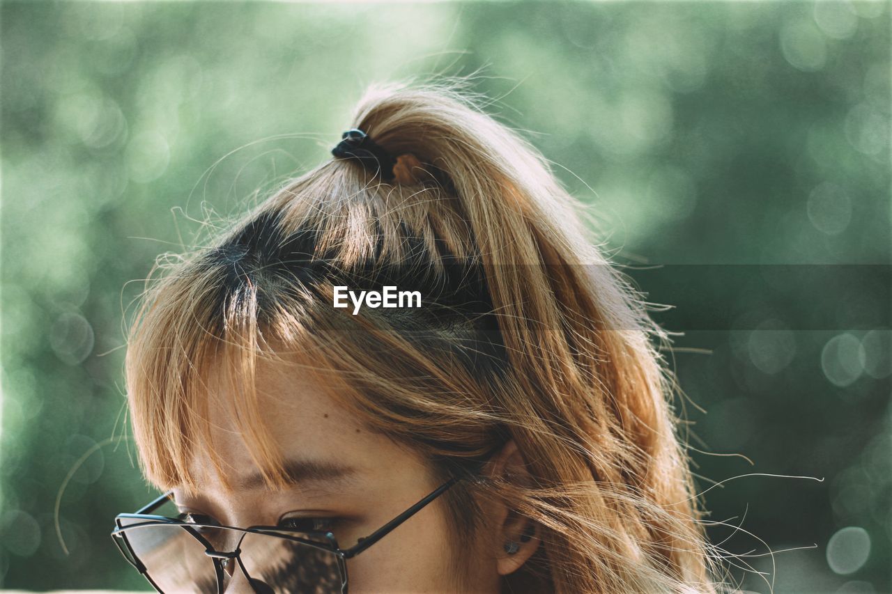
[[[470,97],[373,87],[354,121],[446,179],[475,239],[522,394],[496,394],[496,409],[541,481],[524,503],[553,528],[554,591],[712,591],[673,383],[652,343],[665,333],[588,241],[546,159]]]

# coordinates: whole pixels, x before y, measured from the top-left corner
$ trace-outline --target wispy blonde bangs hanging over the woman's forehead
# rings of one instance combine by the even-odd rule
[[[193,288],[178,291],[186,279]],[[256,311],[256,293],[232,300],[235,308],[248,309],[227,311],[227,318],[241,320],[240,324],[215,325],[215,312],[206,306],[216,301],[211,293],[219,293],[219,285],[196,280],[179,276],[156,286],[153,306],[128,347],[128,400],[142,471],[161,491],[180,487],[195,495],[198,485],[190,466],[196,456],[203,455],[211,461],[222,489],[231,491],[230,473],[212,439],[210,412],[215,407],[232,411],[245,448],[268,487],[284,487],[283,452],[264,422],[257,369],[266,361],[306,373],[316,367],[313,375],[320,375],[318,367],[324,363],[318,356],[316,334],[285,312],[298,310],[297,303],[290,308],[281,304],[276,309],[282,311],[268,315],[277,323],[260,328],[257,316],[250,315]],[[222,333],[217,331],[219,326],[224,328]],[[287,353],[287,359],[280,353]]]

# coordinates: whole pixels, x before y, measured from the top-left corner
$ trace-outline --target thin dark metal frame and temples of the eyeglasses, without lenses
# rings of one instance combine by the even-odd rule
[[[314,549],[326,550],[330,553],[334,553],[337,557],[338,564],[338,572],[341,577],[341,592],[342,594],[347,594],[347,563],[346,560],[352,557],[356,557],[362,551],[368,549],[373,544],[375,544],[378,540],[381,540],[388,533],[392,532],[397,526],[408,520],[411,516],[417,514],[417,512],[421,511],[427,504],[429,504],[434,499],[438,498],[442,493],[446,492],[452,485],[458,483],[458,481],[462,480],[465,477],[462,476],[453,476],[446,483],[442,483],[439,487],[437,487],[434,491],[431,491],[429,494],[425,495],[424,498],[417,501],[417,503],[413,504],[411,507],[403,511],[400,515],[394,517],[390,522],[387,522],[380,528],[376,529],[374,532],[369,534],[368,536],[359,537],[356,544],[348,549],[341,549],[338,545],[337,540],[335,539],[335,534],[330,531],[306,531],[306,530],[295,530],[293,528],[282,528],[280,526],[264,526],[264,525],[256,525],[256,526],[248,526],[247,528],[240,528],[237,526],[228,526],[224,524],[210,524],[210,523],[197,523],[197,522],[183,522],[182,520],[178,520],[177,518],[172,518],[168,516],[155,516],[151,512],[153,512],[158,507],[161,507],[168,500],[172,500],[173,490],[167,491],[157,499],[153,499],[150,503],[145,505],[144,507],[140,507],[136,510],[136,512],[132,514],[118,514],[115,516],[115,529],[111,531],[111,539],[114,540],[115,545],[117,545],[118,549],[121,552],[121,555],[127,559],[130,565],[133,565],[136,571],[138,571],[149,583],[152,584],[155,590],[162,592],[161,588],[153,581],[151,576],[149,576],[147,572],[147,568],[140,561],[139,557],[136,555],[136,552],[133,550],[129,541],[124,535],[124,532],[134,528],[140,528],[144,526],[151,525],[179,525],[184,526],[186,532],[189,532],[195,539],[204,545],[206,548],[204,554],[208,557],[211,557],[211,561],[214,565],[214,570],[217,575],[217,590],[221,594],[223,592],[222,587],[224,584],[224,564],[222,561],[224,559],[233,559],[242,566],[242,570],[247,575],[247,571],[244,567],[244,562],[241,558],[241,549],[236,548],[235,551],[219,551],[214,549],[211,543],[202,537],[198,532],[194,532],[194,530],[190,530],[190,528],[195,527],[206,527],[206,528],[219,528],[219,529],[227,529],[227,530],[235,530],[238,532],[252,532],[255,534],[262,534],[264,536],[272,536],[276,538],[281,538],[285,540],[291,540],[294,542],[300,542],[301,544],[308,545],[313,547]],[[137,519],[137,520],[145,520],[145,522],[140,524],[129,524],[128,526],[121,525],[120,521],[124,518],[128,519]],[[273,532],[275,531],[275,532]],[[297,536],[292,536],[290,534],[282,534],[281,532],[297,532],[300,534],[308,534],[313,535],[314,537],[322,536],[326,540],[327,543],[322,543],[313,540],[305,540],[301,539]],[[241,542],[244,539],[244,535],[239,540]]]

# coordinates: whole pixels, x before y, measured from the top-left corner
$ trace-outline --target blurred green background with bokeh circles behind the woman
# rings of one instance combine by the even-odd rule
[[[629,273],[691,445],[752,461],[692,451],[699,489],[823,479],[706,493],[733,576],[889,591],[888,6],[3,2],[0,586],[146,590],[108,532],[154,495],[111,438],[156,255],[327,159],[368,82],[477,71],[665,265]]]

